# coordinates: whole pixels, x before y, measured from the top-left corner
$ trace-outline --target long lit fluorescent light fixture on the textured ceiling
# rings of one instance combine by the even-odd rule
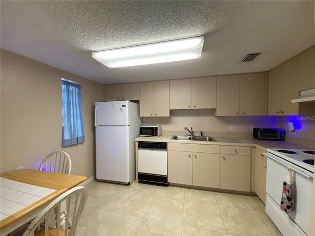
[[[203,36],[93,52],[93,58],[109,68],[198,59]]]

